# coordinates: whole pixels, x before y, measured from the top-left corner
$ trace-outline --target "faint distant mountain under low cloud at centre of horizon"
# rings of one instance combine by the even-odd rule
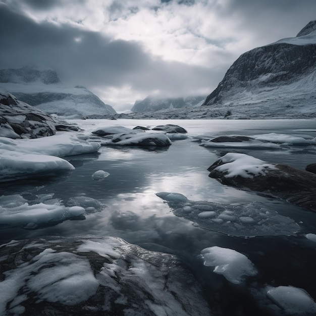
[[[200,106],[205,100],[203,96],[188,96],[178,98],[155,98],[147,96],[143,100],[136,100],[132,112],[147,112],[164,109],[183,109]]]

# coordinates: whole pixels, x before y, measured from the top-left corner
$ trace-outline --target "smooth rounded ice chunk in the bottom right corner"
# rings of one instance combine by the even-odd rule
[[[287,315],[315,315],[316,303],[309,294],[294,286],[268,287],[268,297]]]

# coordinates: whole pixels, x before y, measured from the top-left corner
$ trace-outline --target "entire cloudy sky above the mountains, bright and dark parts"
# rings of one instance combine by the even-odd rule
[[[315,0],[0,0],[0,68],[55,69],[123,111],[206,95],[243,52],[315,19]]]

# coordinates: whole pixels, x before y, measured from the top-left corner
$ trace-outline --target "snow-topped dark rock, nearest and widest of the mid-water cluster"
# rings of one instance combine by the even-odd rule
[[[116,134],[111,140],[101,142],[101,145],[119,146],[170,146],[171,144],[171,140],[165,134],[144,132],[138,134]]]

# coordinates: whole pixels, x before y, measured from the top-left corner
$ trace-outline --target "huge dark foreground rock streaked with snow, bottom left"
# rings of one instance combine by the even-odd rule
[[[0,258],[2,315],[213,314],[176,256],[120,238],[12,241]]]

